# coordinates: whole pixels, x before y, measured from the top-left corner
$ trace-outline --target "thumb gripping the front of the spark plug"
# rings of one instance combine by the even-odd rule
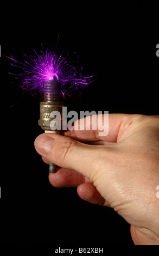
[[[43,133],[35,140],[35,149],[41,156],[62,168],[77,170],[93,182],[97,172],[103,170],[103,147],[107,150],[107,146],[87,145],[54,133]]]

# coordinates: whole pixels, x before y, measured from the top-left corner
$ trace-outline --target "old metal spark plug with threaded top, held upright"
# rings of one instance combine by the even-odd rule
[[[44,82],[44,100],[40,102],[40,119],[39,125],[46,133],[58,133],[60,134],[59,127],[62,127],[62,107],[65,106],[62,96],[58,76],[50,77],[50,80]],[[54,123],[54,127],[50,126],[52,120],[51,113],[53,111],[60,112],[60,120]],[[49,162],[49,172],[56,172],[56,165]]]

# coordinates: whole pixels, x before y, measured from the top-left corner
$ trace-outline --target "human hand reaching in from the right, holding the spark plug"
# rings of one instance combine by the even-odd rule
[[[106,137],[86,130],[63,135],[35,140],[43,161],[61,166],[50,183],[77,186],[82,199],[115,209],[131,224],[136,245],[159,245],[158,116],[109,114]]]

